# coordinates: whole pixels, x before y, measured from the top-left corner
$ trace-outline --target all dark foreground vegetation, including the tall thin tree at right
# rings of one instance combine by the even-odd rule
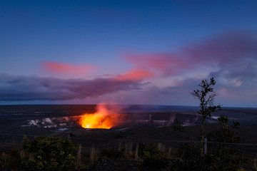
[[[56,134],[57,138],[25,136],[22,145],[14,142],[1,146],[0,170],[257,170],[256,153],[246,154],[236,145],[241,142],[240,123],[221,115],[218,125],[206,125],[206,118],[221,110],[220,105],[214,105],[215,83],[213,78],[204,80],[191,93],[200,102],[201,125],[184,127],[178,122],[169,128],[144,128],[147,131],[138,128],[116,135],[111,134],[112,130],[95,130],[94,134],[105,132],[106,138],[116,140],[101,147],[96,147],[98,140],[94,140],[94,134],[89,135],[93,139],[80,141],[76,133],[69,134],[71,139],[60,138],[61,134]],[[140,140],[146,139],[142,137],[146,133],[148,138],[152,135],[152,140],[160,140],[158,145]],[[163,133],[165,137],[184,137],[187,142],[166,145],[161,141]],[[121,141],[122,138],[133,141]],[[84,146],[86,143],[91,147]]]

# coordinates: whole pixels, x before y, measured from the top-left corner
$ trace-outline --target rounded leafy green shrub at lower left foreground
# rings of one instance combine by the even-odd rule
[[[24,137],[21,152],[24,170],[74,170],[76,149],[71,140],[54,137]]]

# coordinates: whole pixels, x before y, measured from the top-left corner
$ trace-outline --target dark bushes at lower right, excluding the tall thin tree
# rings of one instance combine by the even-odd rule
[[[172,170],[208,170],[208,171],[238,171],[248,165],[248,158],[233,145],[240,142],[236,129],[239,123],[228,124],[224,115],[218,118],[220,128],[212,130],[208,135],[207,155],[202,155],[201,147],[183,144],[176,152],[176,158],[171,160]]]

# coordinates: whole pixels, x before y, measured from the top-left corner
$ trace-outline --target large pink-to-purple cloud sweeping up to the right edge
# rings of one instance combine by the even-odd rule
[[[238,68],[242,63],[256,61],[257,38],[250,33],[221,34],[205,41],[184,46],[178,52],[124,53],[126,61],[136,68],[159,76],[180,76],[202,68]]]

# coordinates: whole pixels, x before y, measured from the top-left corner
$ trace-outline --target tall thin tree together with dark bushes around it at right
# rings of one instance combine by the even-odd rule
[[[202,115],[201,130],[198,136],[198,144],[191,138],[193,145],[183,144],[179,147],[176,156],[178,159],[172,160],[172,170],[231,170],[236,171],[247,165],[246,158],[241,150],[231,147],[230,143],[239,143],[241,138],[235,131],[239,128],[240,123],[233,122],[228,124],[229,119],[224,115],[218,118],[219,129],[211,130],[206,133],[206,118],[211,117],[212,113],[221,110],[221,105],[214,105],[216,93],[213,86],[216,84],[214,78],[210,81],[203,80],[198,84],[199,89],[193,90],[193,97],[199,100],[200,110],[198,113]],[[180,123],[181,124],[181,123]],[[185,132],[180,125],[175,125],[176,130]],[[207,142],[211,141],[211,145],[207,153]]]

